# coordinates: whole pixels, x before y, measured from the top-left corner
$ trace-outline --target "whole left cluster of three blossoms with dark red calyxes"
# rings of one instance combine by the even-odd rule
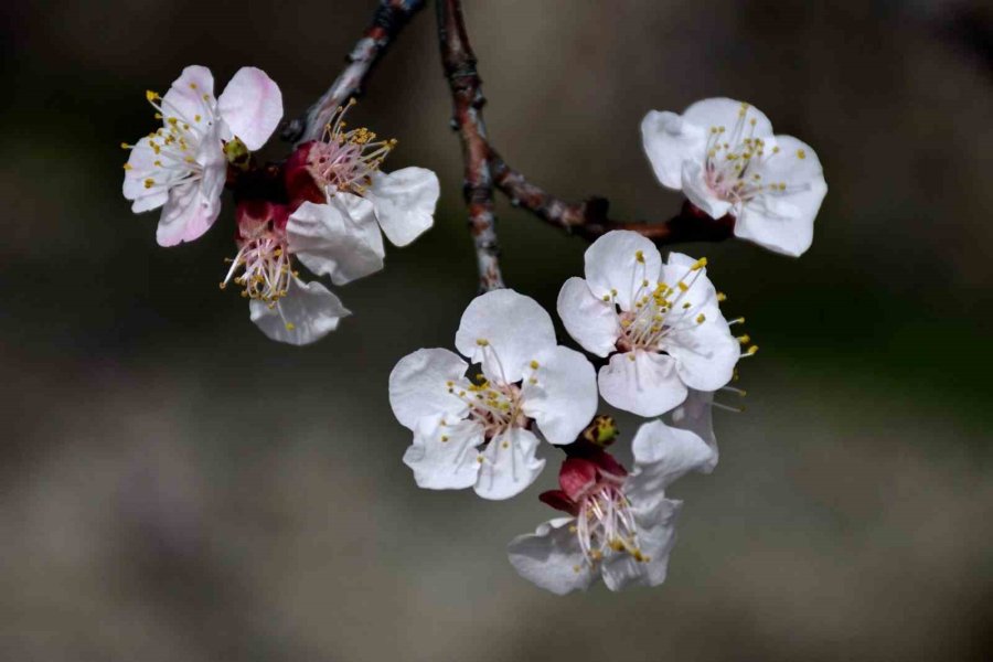
[[[405,246],[434,223],[438,178],[423,168],[383,172],[396,141],[346,130],[352,103],[321,140],[259,168],[250,152],[282,118],[279,87],[244,67],[220,97],[213,89],[210,70],[189,66],[164,96],[147,93],[162,126],[124,146],[131,150],[124,195],[136,213],[161,207],[158,242],[174,246],[210,229],[232,188],[237,252],[221,288],[238,286],[252,321],[273,340],[314,342],[350,312],[319,280],[301,277],[298,264],[339,286],[378,271],[383,234]]]

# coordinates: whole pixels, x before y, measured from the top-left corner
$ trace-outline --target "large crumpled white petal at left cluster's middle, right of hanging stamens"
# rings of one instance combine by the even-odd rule
[[[290,253],[317,275],[344,285],[383,268],[383,237],[370,201],[337,193],[328,204],[305,202],[289,217]]]

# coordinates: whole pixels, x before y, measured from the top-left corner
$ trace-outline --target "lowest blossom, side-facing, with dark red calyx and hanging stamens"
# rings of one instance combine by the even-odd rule
[[[682,506],[665,498],[665,488],[706,467],[713,451],[693,433],[660,420],[642,425],[632,447],[630,474],[601,450],[563,462],[562,489],[542,501],[572,516],[510,543],[510,562],[522,577],[558,595],[586,590],[597,577],[610,590],[665,580]]]

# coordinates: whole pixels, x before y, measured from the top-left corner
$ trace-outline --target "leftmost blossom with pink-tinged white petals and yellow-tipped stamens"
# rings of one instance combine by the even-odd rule
[[[174,246],[200,237],[221,212],[224,141],[237,137],[249,150],[260,148],[282,118],[282,95],[265,72],[246,66],[214,98],[213,75],[194,65],[164,97],[146,96],[162,128],[124,146],[131,150],[124,196],[136,213],[162,207],[156,236],[160,245]]]

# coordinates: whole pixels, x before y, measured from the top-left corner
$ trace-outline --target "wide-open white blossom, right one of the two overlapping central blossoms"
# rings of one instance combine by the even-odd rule
[[[604,399],[659,416],[682,403],[687,387],[716,391],[730,381],[741,352],[705,259],[672,253],[663,265],[654,245],[629,231],[607,233],[585,259],[586,279],[565,282],[558,314],[583,348],[610,355],[598,377]]]

